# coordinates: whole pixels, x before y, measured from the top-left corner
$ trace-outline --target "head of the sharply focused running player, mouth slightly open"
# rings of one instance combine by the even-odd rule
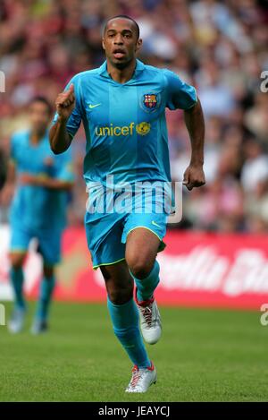
[[[108,21],[103,37],[107,60],[118,68],[127,67],[141,47],[135,24],[128,19],[116,18]]]

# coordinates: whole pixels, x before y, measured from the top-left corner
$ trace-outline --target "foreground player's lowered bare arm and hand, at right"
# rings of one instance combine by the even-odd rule
[[[183,184],[188,190],[205,184],[204,164],[204,137],[205,122],[200,100],[187,111],[184,111],[184,120],[191,141],[191,159],[184,173]]]

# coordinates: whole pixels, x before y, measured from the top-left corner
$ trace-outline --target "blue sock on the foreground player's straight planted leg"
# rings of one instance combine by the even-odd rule
[[[145,368],[151,365],[138,326],[138,309],[133,299],[126,304],[113,304],[108,298],[108,310],[113,331],[133,364]]]

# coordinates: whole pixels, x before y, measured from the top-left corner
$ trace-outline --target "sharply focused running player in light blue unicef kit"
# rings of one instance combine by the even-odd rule
[[[99,187],[109,189],[108,175],[115,185],[171,181],[165,107],[184,110],[192,145],[184,184],[189,190],[205,184],[205,128],[197,92],[175,73],[137,60],[141,44],[136,21],[124,15],[110,19],[103,33],[105,63],[75,75],[55,101],[57,114],[50,131],[54,153],[69,148],[83,121],[89,198],[99,198]],[[146,392],[156,381],[138,313],[147,343],[155,344],[162,331],[154,297],[159,282],[155,257],[164,247],[168,215],[147,213],[142,206],[140,202],[141,212],[87,211],[85,217],[88,248],[93,267],[100,267],[105,279],[113,330],[134,364],[127,392]]]

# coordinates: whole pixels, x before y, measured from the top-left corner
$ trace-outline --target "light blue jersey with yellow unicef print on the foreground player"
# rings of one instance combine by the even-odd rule
[[[197,102],[194,87],[167,69],[137,60],[130,81],[113,81],[106,61],[99,68],[76,74],[76,105],[67,122],[74,136],[84,124],[84,178],[90,184],[170,181],[165,108],[184,109]],[[53,124],[57,120],[54,116]]]

